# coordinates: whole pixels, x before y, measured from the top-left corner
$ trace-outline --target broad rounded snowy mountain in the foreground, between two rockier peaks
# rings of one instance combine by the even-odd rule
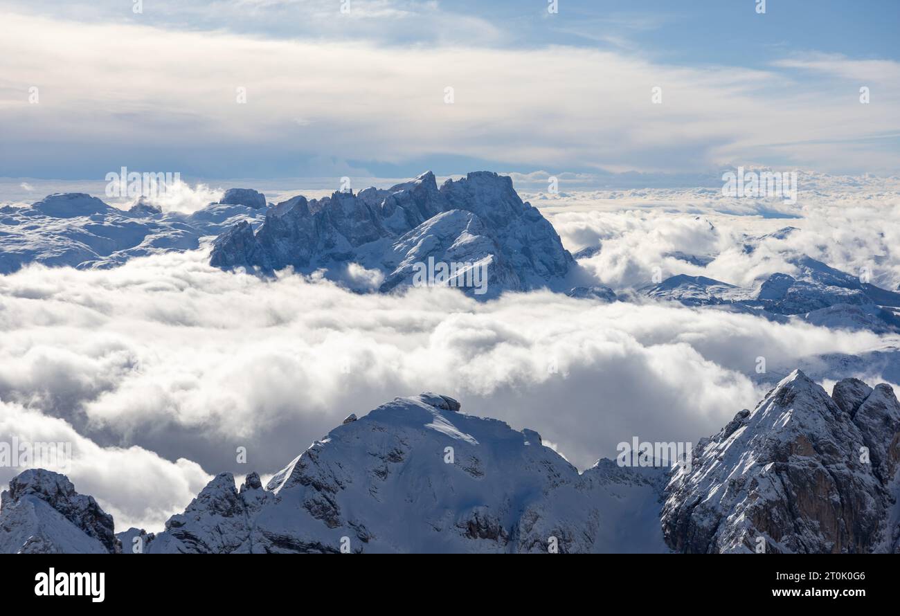
[[[427,393],[348,418],[266,487],[219,475],[148,551],[661,551],[662,472],[642,470],[580,475],[537,433]]]

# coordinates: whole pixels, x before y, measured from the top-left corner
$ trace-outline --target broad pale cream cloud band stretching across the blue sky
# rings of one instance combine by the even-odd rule
[[[861,105],[858,85],[844,84],[847,97],[835,96],[830,81],[799,87],[796,72],[807,71],[794,65],[696,68],[565,46],[259,40],[144,22],[5,20],[0,53],[11,70],[0,160],[10,174],[99,174],[127,164],[297,176],[316,174],[306,166],[311,156],[349,153],[389,164],[452,154],[551,172],[697,171],[775,158],[890,173],[900,163],[896,148],[858,143],[848,155],[833,147],[900,131],[900,94],[879,91],[878,104]],[[60,46],[70,54],[65,65]],[[138,67],[135,58],[153,62]],[[889,79],[896,63],[867,71]],[[40,104],[28,103],[31,85]],[[651,103],[654,86],[662,104]],[[247,103],[237,102],[238,87]],[[453,104],[444,102],[446,87]],[[53,135],[55,147],[41,135]]]

